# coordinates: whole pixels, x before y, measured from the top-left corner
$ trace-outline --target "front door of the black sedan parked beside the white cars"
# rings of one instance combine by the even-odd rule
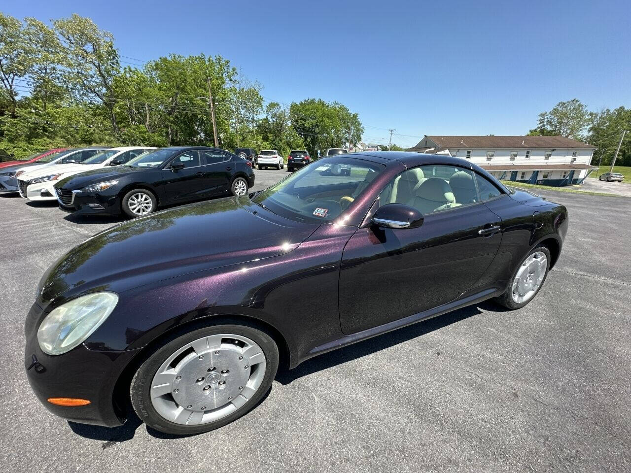
[[[174,165],[184,165],[175,169]],[[199,149],[184,151],[162,169],[162,188],[167,201],[181,202],[204,197],[206,183]]]

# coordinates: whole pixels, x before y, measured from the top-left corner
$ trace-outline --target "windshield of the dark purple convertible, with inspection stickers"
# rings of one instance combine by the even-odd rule
[[[348,157],[322,158],[252,198],[285,218],[322,223],[338,218],[384,166]]]

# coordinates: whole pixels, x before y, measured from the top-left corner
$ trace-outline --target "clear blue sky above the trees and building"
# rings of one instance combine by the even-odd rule
[[[387,144],[389,128],[401,146],[423,134],[525,134],[571,98],[591,110],[631,105],[623,0],[30,0],[2,11],[89,16],[144,61],[220,54],[269,100],[344,103],[372,143]]]

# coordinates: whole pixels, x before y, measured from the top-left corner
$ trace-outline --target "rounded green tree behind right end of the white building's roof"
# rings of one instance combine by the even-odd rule
[[[587,107],[577,98],[559,102],[549,112],[541,112],[537,127],[528,134],[531,136],[560,135],[573,139],[584,139],[584,132],[589,125]]]

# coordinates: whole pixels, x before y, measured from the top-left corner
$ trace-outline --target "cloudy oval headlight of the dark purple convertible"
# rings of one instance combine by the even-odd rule
[[[115,293],[92,293],[66,302],[52,310],[37,330],[44,353],[66,353],[80,345],[109,317],[118,302]]]

